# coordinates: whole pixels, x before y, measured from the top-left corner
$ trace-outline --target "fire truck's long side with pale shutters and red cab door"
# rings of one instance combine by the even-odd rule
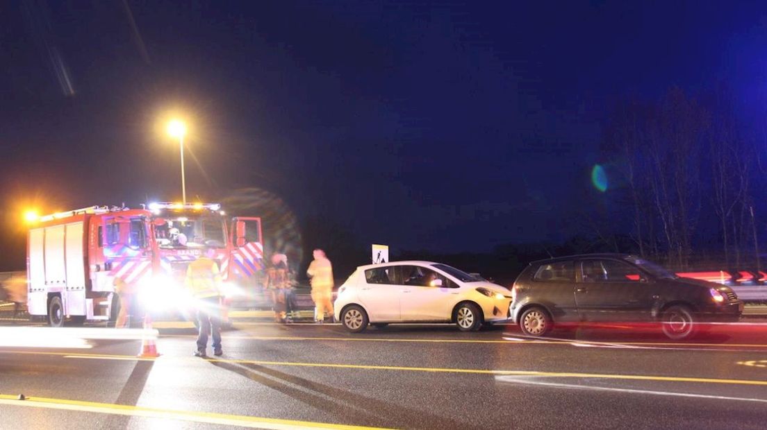
[[[40,217],[27,241],[27,306],[53,327],[114,321],[115,286],[137,290],[159,269],[152,213],[86,207]]]

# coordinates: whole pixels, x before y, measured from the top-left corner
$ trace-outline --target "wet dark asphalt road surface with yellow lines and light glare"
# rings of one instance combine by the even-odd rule
[[[7,345],[12,336],[4,333]],[[162,330],[162,355],[146,360],[136,357],[140,340],[0,346],[0,428],[761,429],[767,422],[762,324],[673,343],[626,327],[532,340],[514,327],[461,333],[408,325],[353,335],[334,324],[239,322],[215,359],[192,357],[194,340],[189,330]],[[27,399],[16,399],[20,393]]]

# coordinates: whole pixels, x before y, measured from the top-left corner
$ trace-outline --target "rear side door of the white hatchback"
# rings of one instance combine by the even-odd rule
[[[394,269],[394,266],[367,269],[364,272],[364,283],[357,285],[357,296],[367,309],[370,322],[401,321],[402,285],[395,283]]]

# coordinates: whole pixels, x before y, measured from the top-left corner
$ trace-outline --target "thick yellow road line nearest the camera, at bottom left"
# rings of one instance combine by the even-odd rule
[[[64,409],[77,412],[95,412],[109,415],[140,416],[156,419],[176,419],[181,421],[202,422],[216,425],[236,425],[249,428],[270,428],[286,430],[290,428],[329,428],[338,430],[364,430],[374,427],[358,425],[331,424],[324,422],[296,421],[291,419],[261,418],[247,415],[229,415],[216,412],[182,411],[174,409],[148,408],[144,406],[117,405],[115,403],[82,402],[79,400],[49,399],[28,397],[18,400],[17,396],[0,394],[0,405],[26,406],[33,408]]]

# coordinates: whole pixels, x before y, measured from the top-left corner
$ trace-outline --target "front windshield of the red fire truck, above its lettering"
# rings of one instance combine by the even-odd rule
[[[200,248],[226,246],[224,220],[213,215],[176,215],[162,217],[155,223],[155,237],[160,248]]]

